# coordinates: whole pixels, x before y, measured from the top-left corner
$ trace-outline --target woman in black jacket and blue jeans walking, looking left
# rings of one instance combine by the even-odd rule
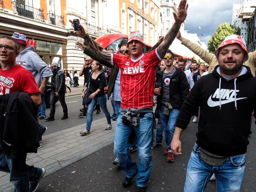
[[[104,93],[106,78],[104,72],[102,72],[102,65],[100,65],[98,61],[94,60],[91,67],[93,71],[91,72],[86,87],[83,90],[82,98],[85,96],[85,92],[88,89],[90,95],[89,98],[91,98],[92,101],[87,105],[88,109],[86,129],[80,132],[81,135],[87,135],[90,133],[91,122],[93,121],[93,109],[97,102],[99,103],[103,113],[106,115],[108,121],[108,126],[106,127],[106,130],[112,128],[110,113],[107,109],[107,97]]]

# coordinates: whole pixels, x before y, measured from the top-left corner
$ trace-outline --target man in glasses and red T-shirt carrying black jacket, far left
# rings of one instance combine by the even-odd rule
[[[4,134],[0,136],[0,171],[10,173],[10,181],[15,186],[15,192],[35,192],[39,186],[40,180],[45,175],[45,169],[27,165],[26,156],[28,152],[37,152],[37,146],[41,140],[39,127],[37,126],[37,116],[33,107],[33,105],[36,107],[41,105],[41,96],[32,73],[22,66],[16,65],[15,59],[18,55],[17,42],[11,37],[0,37],[0,63],[2,64],[2,68],[0,69],[0,95],[11,98],[11,94],[17,95],[17,92],[27,92],[30,96],[23,98],[19,103],[25,100],[31,103],[31,105],[26,105],[26,113],[9,113],[9,115],[5,113],[6,111],[3,111],[4,105],[1,105],[0,113],[4,113],[1,117],[5,116],[6,121],[4,123],[4,119],[2,118],[0,122],[1,124],[4,123],[4,126],[1,125],[0,127],[6,130],[0,130],[0,133],[5,133],[7,139],[9,138],[8,135],[12,135],[16,139],[2,140],[6,137],[4,137]],[[16,100],[10,99],[5,105],[8,106],[9,102],[14,103]],[[10,105],[16,108],[16,110],[19,109],[19,106],[13,103]],[[29,114],[31,114],[31,116],[29,116]],[[28,118],[31,124],[26,127],[21,127],[24,128],[22,131],[17,130],[22,125],[17,127],[13,122],[20,122],[24,117]],[[11,122],[11,127],[5,127],[7,126],[9,118],[13,121]],[[11,130],[14,132],[8,133],[8,131]],[[23,134],[19,133],[25,133],[27,130],[29,130],[29,133],[26,135],[26,138],[20,138]],[[10,143],[7,143],[7,141]]]

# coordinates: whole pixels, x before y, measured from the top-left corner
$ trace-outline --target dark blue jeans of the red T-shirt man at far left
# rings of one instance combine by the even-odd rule
[[[17,159],[7,159],[0,145],[0,171],[10,173],[10,181],[15,186],[15,192],[29,192],[29,183],[37,181],[41,169],[26,164],[27,153],[20,151]]]

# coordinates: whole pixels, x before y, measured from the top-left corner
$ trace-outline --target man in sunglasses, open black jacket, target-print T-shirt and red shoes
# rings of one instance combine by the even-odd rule
[[[156,88],[154,93],[158,95],[157,109],[159,110],[161,127],[163,127],[167,144],[163,154],[167,155],[168,162],[173,162],[174,155],[171,150],[171,141],[180,107],[189,94],[189,85],[186,74],[180,68],[173,66],[174,54],[171,50],[167,51],[163,59],[166,68],[156,74],[156,83],[160,83],[161,88]],[[156,135],[156,141],[160,140],[160,137],[161,135]]]

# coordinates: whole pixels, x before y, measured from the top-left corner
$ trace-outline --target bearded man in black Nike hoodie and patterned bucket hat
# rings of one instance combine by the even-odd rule
[[[245,174],[250,118],[256,109],[256,78],[243,66],[243,37],[230,35],[215,51],[219,65],[200,78],[182,105],[171,149],[181,154],[180,135],[200,106],[197,142],[187,165],[184,192],[206,190],[214,173],[218,191],[240,191]]]

